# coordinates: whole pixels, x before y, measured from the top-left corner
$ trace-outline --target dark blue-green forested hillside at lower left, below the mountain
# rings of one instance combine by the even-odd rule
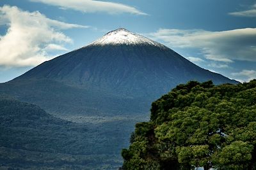
[[[0,120],[0,169],[116,169],[122,164],[117,155],[124,132],[113,134],[107,123],[101,124],[106,127],[102,134],[97,125],[61,120],[3,95]]]

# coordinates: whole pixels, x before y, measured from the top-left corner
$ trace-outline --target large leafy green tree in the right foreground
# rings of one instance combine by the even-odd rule
[[[255,169],[256,80],[178,85],[152,103],[130,142],[124,169]]]

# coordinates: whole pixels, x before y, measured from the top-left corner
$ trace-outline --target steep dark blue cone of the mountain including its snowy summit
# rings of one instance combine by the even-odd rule
[[[13,80],[47,78],[122,96],[158,97],[179,83],[236,83],[202,69],[170,48],[125,29],[61,55]]]

